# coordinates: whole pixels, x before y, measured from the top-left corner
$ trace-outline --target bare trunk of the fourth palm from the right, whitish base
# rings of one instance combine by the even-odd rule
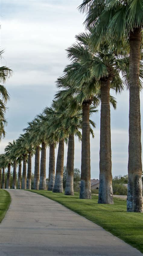
[[[74,195],[74,135],[68,138],[65,195]]]

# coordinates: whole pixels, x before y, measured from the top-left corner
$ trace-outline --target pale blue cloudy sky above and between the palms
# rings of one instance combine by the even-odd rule
[[[84,14],[77,7],[82,0],[1,0],[1,48],[5,49],[1,66],[13,70],[5,86],[10,94],[6,118],[7,135],[0,144],[4,152],[8,142],[17,139],[27,122],[50,106],[55,81],[69,64],[65,49],[75,42],[75,35],[84,31]],[[112,174],[128,172],[129,92],[116,95],[117,109],[111,107]],[[141,100],[141,126],[143,97]],[[92,116],[96,123],[91,138],[91,178],[99,178],[100,107]],[[57,156],[57,150],[55,151]],[[67,159],[65,146],[64,165]],[[46,150],[48,177],[49,149]],[[81,143],[75,138],[75,168],[81,168]],[[32,159],[34,173],[34,158]]]

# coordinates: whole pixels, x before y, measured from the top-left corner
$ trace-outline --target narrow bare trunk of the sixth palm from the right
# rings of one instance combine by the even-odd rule
[[[55,181],[55,145],[50,144],[48,190],[53,190]]]

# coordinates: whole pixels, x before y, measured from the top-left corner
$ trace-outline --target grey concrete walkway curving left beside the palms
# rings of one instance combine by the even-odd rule
[[[41,195],[8,190],[0,256],[141,256],[100,226]]]

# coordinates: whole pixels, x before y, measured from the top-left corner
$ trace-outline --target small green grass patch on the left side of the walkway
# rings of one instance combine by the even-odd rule
[[[11,196],[8,193],[8,191],[0,189],[0,223],[2,219],[5,217],[5,213],[7,212],[10,203]]]

